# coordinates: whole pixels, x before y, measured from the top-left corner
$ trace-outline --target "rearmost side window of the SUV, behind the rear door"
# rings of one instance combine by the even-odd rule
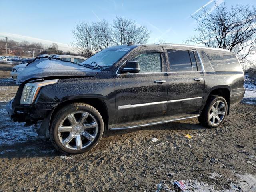
[[[215,71],[241,71],[241,66],[234,54],[206,52]]]

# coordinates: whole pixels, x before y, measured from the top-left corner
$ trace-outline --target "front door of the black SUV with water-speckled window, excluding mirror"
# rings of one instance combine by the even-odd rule
[[[137,61],[140,72],[116,72],[116,124],[164,116],[168,75],[163,49],[137,51],[127,60]]]

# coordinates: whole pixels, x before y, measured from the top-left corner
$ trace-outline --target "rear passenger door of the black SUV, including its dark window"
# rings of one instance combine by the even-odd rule
[[[204,72],[194,50],[166,50],[168,101],[166,115],[197,114],[204,97]]]

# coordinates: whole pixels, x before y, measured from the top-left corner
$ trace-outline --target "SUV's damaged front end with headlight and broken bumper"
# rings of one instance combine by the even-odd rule
[[[13,100],[6,105],[6,111],[14,122],[25,122],[24,126],[36,125],[41,122],[37,129],[39,135],[48,137],[50,117],[56,103],[36,102],[40,89],[44,86],[56,84],[58,80],[41,80],[22,84]]]

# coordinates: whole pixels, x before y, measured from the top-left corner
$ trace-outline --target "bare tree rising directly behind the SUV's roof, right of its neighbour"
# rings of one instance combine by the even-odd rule
[[[121,16],[116,16],[113,19],[113,42],[117,45],[146,43],[150,37],[150,31],[146,26],[137,26],[137,24]]]

